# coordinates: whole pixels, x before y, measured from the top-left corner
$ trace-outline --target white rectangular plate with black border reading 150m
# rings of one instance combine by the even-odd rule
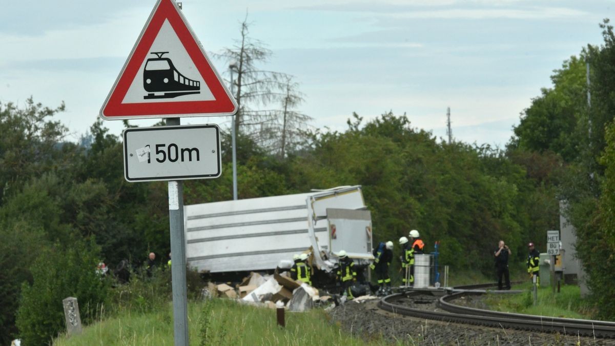
[[[124,177],[129,182],[220,177],[217,125],[124,130]]]

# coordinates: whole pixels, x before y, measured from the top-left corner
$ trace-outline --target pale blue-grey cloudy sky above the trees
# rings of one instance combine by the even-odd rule
[[[148,1],[8,1],[0,4],[0,102],[54,107],[77,140],[94,123],[153,9]],[[272,50],[268,70],[296,76],[298,109],[314,127],[344,131],[366,119],[407,113],[414,127],[503,146],[552,70],[601,43],[598,23],[614,1],[228,0],[183,1],[207,52],[250,34]],[[226,63],[213,60],[228,76]],[[155,121],[131,121],[149,126]],[[183,124],[229,118],[185,118]],[[121,121],[105,121],[120,134]]]

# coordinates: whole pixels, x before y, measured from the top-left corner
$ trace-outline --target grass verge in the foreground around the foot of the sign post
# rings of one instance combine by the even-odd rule
[[[276,310],[212,299],[190,303],[188,321],[190,345],[365,345],[317,309],[286,312],[286,328],[280,328]],[[172,305],[155,312],[119,313],[85,327],[79,336],[60,336],[54,345],[173,345]]]

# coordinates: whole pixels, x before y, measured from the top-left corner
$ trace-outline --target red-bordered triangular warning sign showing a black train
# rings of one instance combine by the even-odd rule
[[[158,0],[100,110],[107,120],[233,115],[237,103],[173,0]]]

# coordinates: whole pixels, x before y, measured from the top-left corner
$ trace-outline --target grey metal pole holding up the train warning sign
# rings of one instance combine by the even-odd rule
[[[167,126],[177,125],[180,125],[180,118],[167,119]],[[173,341],[175,346],[188,346],[186,235],[184,234],[184,193],[181,181],[169,182],[169,228],[172,255]]]

